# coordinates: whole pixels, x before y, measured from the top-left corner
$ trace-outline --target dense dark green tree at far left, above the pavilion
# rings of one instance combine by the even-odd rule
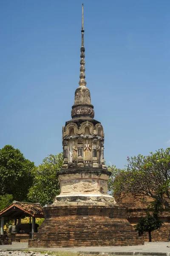
[[[34,163],[26,159],[19,149],[11,145],[0,149],[0,195],[11,194],[14,200],[27,201],[33,168]]]

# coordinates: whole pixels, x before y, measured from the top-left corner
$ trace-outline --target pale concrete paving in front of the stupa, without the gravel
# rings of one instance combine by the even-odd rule
[[[108,247],[67,247],[67,248],[28,248],[28,243],[13,242],[11,245],[0,245],[0,250],[30,250],[30,251],[71,251],[83,254],[107,255],[144,255],[170,256],[170,242],[146,242],[138,246],[108,246]],[[105,253],[105,254],[104,254]]]

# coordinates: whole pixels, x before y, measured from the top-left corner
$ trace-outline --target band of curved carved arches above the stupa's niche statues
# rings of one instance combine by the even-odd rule
[[[63,138],[69,136],[70,131],[71,131],[72,128],[74,129],[74,134],[75,135],[85,134],[85,128],[86,127],[89,128],[91,135],[98,135],[99,130],[100,130],[101,136],[104,137],[102,125],[100,123],[98,123],[94,126],[93,123],[89,122],[89,121],[82,122],[79,129],[78,129],[77,124],[69,123],[66,127],[63,127],[62,136],[63,136]]]

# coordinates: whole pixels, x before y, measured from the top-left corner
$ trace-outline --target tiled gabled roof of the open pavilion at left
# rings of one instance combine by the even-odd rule
[[[9,219],[20,218],[26,215],[33,216],[35,218],[43,218],[42,207],[40,204],[25,203],[13,201],[11,205],[6,207],[0,212],[0,218],[5,217]]]

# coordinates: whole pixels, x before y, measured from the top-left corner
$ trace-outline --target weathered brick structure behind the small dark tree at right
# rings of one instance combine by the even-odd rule
[[[141,217],[146,215],[147,205],[152,201],[153,198],[137,193],[122,194],[119,198],[116,198],[116,202],[120,206],[128,207],[127,219],[133,226],[139,222]],[[152,232],[152,241],[167,241],[170,231],[170,212],[163,212],[160,219],[164,224],[159,230]],[[148,240],[148,233],[145,233],[144,241]]]

